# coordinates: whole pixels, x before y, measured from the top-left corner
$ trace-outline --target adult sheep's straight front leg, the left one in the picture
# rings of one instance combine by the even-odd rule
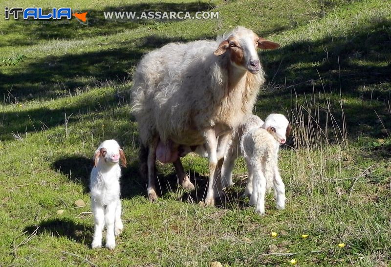
[[[204,133],[206,151],[209,156],[209,184],[208,193],[206,194],[205,206],[215,206],[215,172],[217,167],[217,142],[216,135],[213,129],[209,129]]]

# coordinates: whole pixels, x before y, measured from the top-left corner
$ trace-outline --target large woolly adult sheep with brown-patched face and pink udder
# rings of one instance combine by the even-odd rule
[[[132,111],[151,201],[157,199],[156,156],[173,162],[182,186],[194,189],[180,162],[180,150],[205,144],[210,175],[205,204],[214,205],[216,169],[221,168],[226,144],[233,129],[251,114],[264,82],[257,48],[279,46],[238,26],[217,41],[169,43],[141,59],[133,76]]]

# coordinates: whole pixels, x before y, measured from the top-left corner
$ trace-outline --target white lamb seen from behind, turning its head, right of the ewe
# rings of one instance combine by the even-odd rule
[[[284,115],[270,114],[262,128],[252,128],[243,134],[241,150],[249,169],[248,181],[252,182],[250,205],[255,205],[259,214],[265,213],[265,193],[272,185],[277,209],[285,209],[285,185],[278,170],[278,151],[290,131]]]

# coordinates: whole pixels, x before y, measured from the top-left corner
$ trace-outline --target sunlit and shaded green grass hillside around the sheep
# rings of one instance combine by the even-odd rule
[[[69,6],[17,0],[0,9],[33,5]],[[88,26],[0,18],[0,265],[391,264],[390,3],[82,0],[71,7],[88,11]],[[109,22],[106,10],[209,10],[219,19]],[[286,209],[268,196],[260,217],[239,198],[242,159],[221,205],[202,208],[207,163],[192,154],[183,165],[196,191],[177,187],[172,165],[158,164],[160,198],[151,204],[138,174],[132,70],[168,42],[215,38],[236,25],[282,44],[261,51],[267,80],[254,112],[282,112],[293,125],[280,153]],[[130,161],[121,180],[125,229],[114,251],[91,250],[93,217],[83,213],[91,157],[109,138]],[[77,199],[86,207],[76,208]]]

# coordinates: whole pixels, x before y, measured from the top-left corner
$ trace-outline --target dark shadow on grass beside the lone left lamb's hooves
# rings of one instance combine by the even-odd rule
[[[81,244],[90,244],[92,241],[93,228],[76,224],[71,219],[49,219],[42,221],[39,225],[27,226],[23,231],[31,234],[37,227],[39,227],[37,234],[66,237]]]

